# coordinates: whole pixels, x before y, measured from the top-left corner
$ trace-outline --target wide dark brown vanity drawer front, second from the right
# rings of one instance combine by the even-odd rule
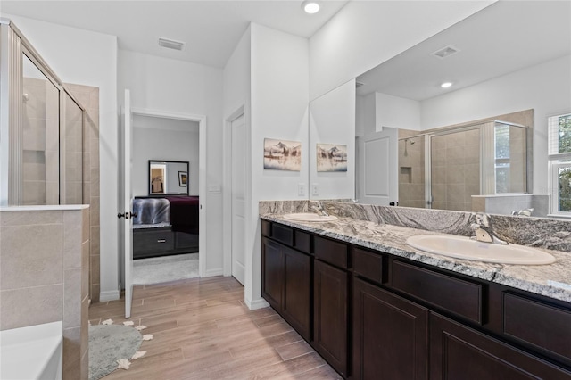
[[[483,324],[484,285],[392,261],[393,288]]]

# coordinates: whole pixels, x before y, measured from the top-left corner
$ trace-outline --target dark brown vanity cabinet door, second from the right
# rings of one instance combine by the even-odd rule
[[[427,378],[426,308],[355,278],[352,328],[353,378]]]

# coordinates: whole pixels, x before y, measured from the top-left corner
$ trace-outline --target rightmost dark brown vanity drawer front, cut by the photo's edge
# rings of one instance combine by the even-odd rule
[[[571,311],[503,293],[503,332],[571,359]]]

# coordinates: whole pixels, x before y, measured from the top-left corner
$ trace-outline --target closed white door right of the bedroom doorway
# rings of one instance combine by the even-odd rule
[[[232,276],[244,285],[246,128],[244,114],[231,124],[232,134]]]

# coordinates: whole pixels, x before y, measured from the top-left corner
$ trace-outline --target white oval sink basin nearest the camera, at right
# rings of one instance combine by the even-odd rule
[[[482,243],[465,236],[418,235],[409,237],[407,244],[421,251],[465,260],[518,265],[541,265],[555,262],[555,258],[549,253],[534,248],[517,244]]]

